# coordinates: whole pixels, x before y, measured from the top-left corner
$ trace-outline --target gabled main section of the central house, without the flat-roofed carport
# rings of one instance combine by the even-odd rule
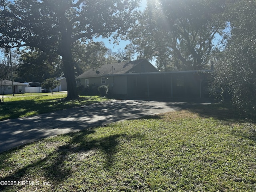
[[[128,75],[145,72],[159,72],[146,59],[102,65],[97,70],[90,69],[76,79],[78,85],[107,85],[112,94],[128,94]]]

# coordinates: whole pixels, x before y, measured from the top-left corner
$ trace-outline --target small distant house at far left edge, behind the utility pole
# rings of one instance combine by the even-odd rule
[[[26,85],[20,82],[13,82],[14,93],[25,93]],[[12,94],[12,81],[0,80],[0,94]]]

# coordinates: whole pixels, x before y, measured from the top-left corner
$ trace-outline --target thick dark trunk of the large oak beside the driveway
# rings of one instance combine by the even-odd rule
[[[68,96],[66,99],[72,100],[78,98],[78,94],[76,92],[76,78],[74,72],[74,62],[72,58],[72,51],[71,45],[65,44],[63,54],[62,54],[62,61],[64,66],[64,76],[67,81],[67,88],[68,88]]]

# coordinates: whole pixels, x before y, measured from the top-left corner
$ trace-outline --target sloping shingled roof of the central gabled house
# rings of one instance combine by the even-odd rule
[[[113,64],[105,64],[105,65],[102,65],[97,70],[89,69],[88,71],[79,75],[77,78],[88,78],[88,77],[97,77],[97,76],[107,76],[107,75],[112,75],[112,74],[134,73],[136,71],[133,71],[132,69],[142,62],[147,62],[148,64],[152,65],[146,59],[113,63]],[[157,71],[157,69],[156,69],[156,71]]]

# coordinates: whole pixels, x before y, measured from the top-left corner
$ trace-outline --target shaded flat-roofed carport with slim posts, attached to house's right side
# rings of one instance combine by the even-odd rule
[[[127,75],[128,97],[207,98],[212,70]]]

